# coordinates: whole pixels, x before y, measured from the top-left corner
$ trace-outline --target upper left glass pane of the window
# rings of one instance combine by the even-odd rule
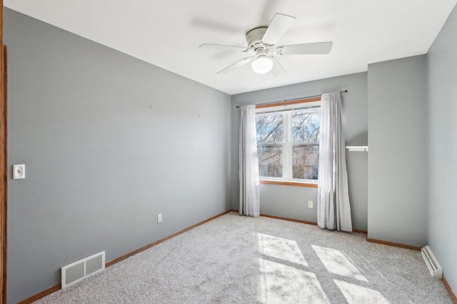
[[[256,115],[256,132],[257,142],[283,142],[283,115]]]

